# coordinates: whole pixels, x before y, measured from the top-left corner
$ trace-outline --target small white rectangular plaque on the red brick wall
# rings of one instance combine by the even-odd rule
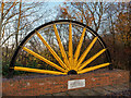
[[[68,81],[68,89],[85,87],[85,79]]]

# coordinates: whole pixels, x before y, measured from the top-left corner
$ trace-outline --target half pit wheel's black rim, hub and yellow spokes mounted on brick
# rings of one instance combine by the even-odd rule
[[[62,42],[66,40],[61,40],[60,37],[60,29],[62,29],[62,27],[66,26],[68,30],[68,51],[66,51]],[[46,41],[46,39],[44,38],[45,36],[41,36],[40,30],[44,29],[48,29],[48,28],[52,28],[52,34],[53,36],[56,36],[56,44],[58,44],[57,47],[59,47],[59,50],[61,52],[61,57],[58,56],[58,53],[55,51],[53,48],[51,48],[51,46]],[[80,30],[80,39],[78,41],[78,45],[75,47],[75,49],[73,48],[73,37],[76,30]],[[63,33],[63,32],[62,32]],[[83,39],[86,36],[86,33],[88,34],[88,36],[92,38],[92,41],[90,42],[88,46],[86,46],[84,51],[81,51],[82,46],[83,46]],[[62,34],[61,34],[62,35]],[[38,54],[37,52],[33,51],[33,49],[28,49],[28,40],[31,38],[33,38],[33,36],[37,36],[41,42],[48,50],[49,52],[53,56],[53,58],[57,60],[57,62],[59,63],[56,64],[52,61],[46,59],[45,57]],[[102,46],[102,50],[99,50],[98,52],[96,52],[95,54],[93,54],[92,57],[90,57],[88,59],[86,59],[86,56],[90,53],[90,51],[93,51],[92,48],[95,45],[95,42],[98,41],[99,45]],[[26,46],[25,46],[26,45]],[[40,69],[31,69],[31,68],[25,68],[25,66],[16,66],[15,62],[16,62],[16,58],[20,56],[19,53],[21,51],[26,51],[27,53],[34,56],[35,58],[44,61],[45,63],[51,65],[52,68],[56,68],[58,71],[50,71],[50,70],[40,70]],[[93,62],[95,59],[97,59],[98,57],[100,57],[103,53],[105,53],[105,58],[107,60],[107,62],[105,63],[100,63],[100,64],[96,64],[94,66],[90,66],[90,63]],[[70,21],[70,20],[60,20],[60,21],[53,21],[53,22],[49,22],[46,23],[39,27],[37,27],[36,29],[34,29],[32,33],[29,33],[24,40],[20,44],[20,46],[17,47],[16,51],[13,54],[13,58],[11,60],[11,64],[10,64],[10,72],[15,71],[27,71],[27,72],[36,72],[36,73],[46,73],[46,74],[82,74],[82,73],[86,73],[90,71],[94,71],[100,68],[105,68],[108,66],[108,69],[111,70],[111,63],[110,63],[110,56],[109,56],[109,51],[105,45],[105,42],[103,41],[103,39],[99,37],[99,35],[94,32],[92,28],[90,28],[88,26],[80,23],[80,22],[75,22],[75,21]],[[86,68],[90,66],[90,68]]]

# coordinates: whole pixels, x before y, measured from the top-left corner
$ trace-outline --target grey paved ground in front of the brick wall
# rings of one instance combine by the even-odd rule
[[[92,89],[75,89],[68,90],[64,93],[56,93],[44,96],[51,96],[56,98],[57,96],[67,96],[68,98],[72,98],[73,96],[126,96],[131,98],[131,89],[129,84],[114,85],[114,86],[105,86],[97,87]]]

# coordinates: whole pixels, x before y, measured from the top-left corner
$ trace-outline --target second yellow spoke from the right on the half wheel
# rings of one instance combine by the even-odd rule
[[[86,66],[88,63],[91,63],[93,60],[95,60],[98,56],[100,56],[104,51],[106,51],[106,49],[100,50],[99,52],[97,52],[95,56],[91,57],[87,61],[85,61],[84,63],[82,63],[81,68],[79,68],[79,71],[81,71],[84,66]]]

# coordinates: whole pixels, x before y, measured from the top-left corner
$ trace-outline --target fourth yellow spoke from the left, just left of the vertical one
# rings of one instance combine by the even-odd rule
[[[68,58],[67,58],[67,54],[66,54],[64,48],[63,48],[63,46],[62,46],[62,44],[61,44],[61,39],[60,39],[59,34],[58,34],[58,30],[57,30],[56,24],[53,24],[53,29],[55,29],[55,35],[56,35],[56,37],[57,37],[58,45],[59,45],[59,47],[60,47],[60,51],[61,51],[61,54],[62,54],[63,61],[64,61],[64,63],[67,64],[67,66],[69,68],[69,60],[68,60]]]

